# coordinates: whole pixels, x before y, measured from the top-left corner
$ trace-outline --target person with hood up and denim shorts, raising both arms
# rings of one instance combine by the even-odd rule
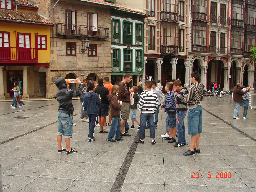
[[[78,83],[78,90],[67,89],[67,83],[63,77],[59,77],[55,81],[55,85],[58,87],[57,101],[59,102],[59,113],[58,113],[58,153],[66,151],[66,153],[76,153],[70,147],[70,138],[73,134],[73,112],[74,107],[72,104],[72,97],[77,97],[81,95],[82,86],[81,81],[77,78],[76,83]],[[62,135],[65,137],[66,148],[62,148]]]

